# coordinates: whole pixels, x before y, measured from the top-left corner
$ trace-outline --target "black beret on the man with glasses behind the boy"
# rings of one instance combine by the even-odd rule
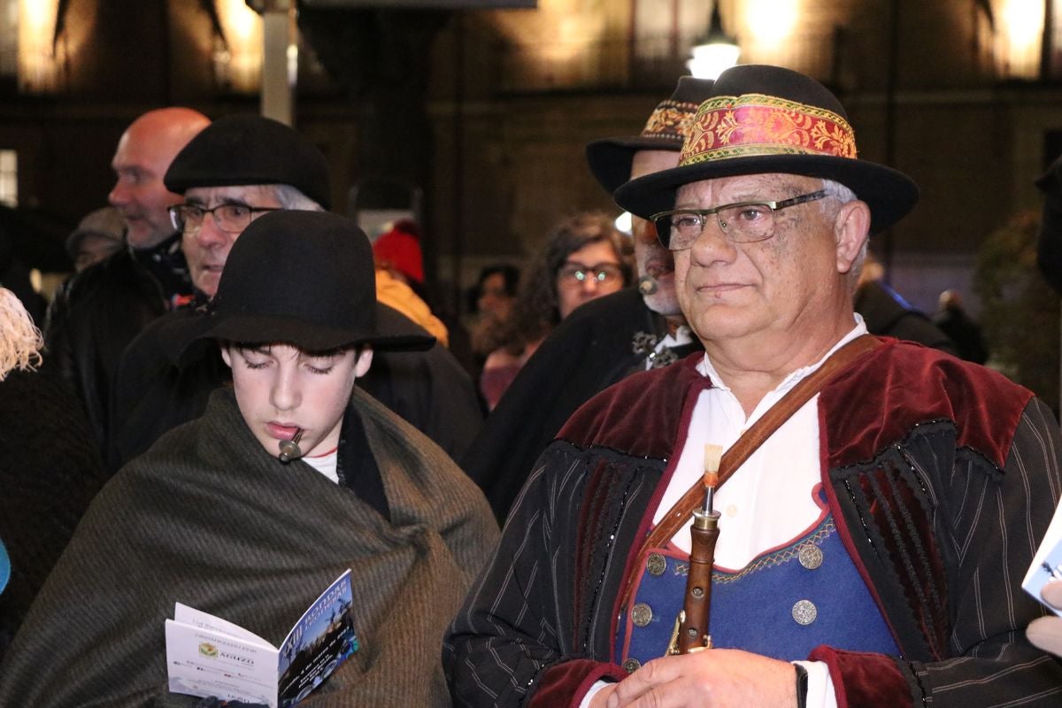
[[[195,187],[291,185],[325,209],[331,206],[328,163],[302,133],[272,118],[226,116],[177,153],[162,178],[171,192]]]

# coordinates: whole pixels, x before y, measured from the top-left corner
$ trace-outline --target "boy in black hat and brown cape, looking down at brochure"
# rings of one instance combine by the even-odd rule
[[[175,602],[279,643],[346,568],[361,649],[304,705],[449,704],[439,645],[497,528],[449,457],[355,385],[374,351],[433,342],[376,313],[352,222],[247,226],[210,313],[168,329],[216,340],[233,385],[93,501],[0,668],[0,705],[193,705],[167,693]]]

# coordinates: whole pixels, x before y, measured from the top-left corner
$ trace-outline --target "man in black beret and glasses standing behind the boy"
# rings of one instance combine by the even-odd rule
[[[215,121],[174,158],[166,185],[184,195],[184,203],[170,211],[183,234],[196,307],[213,297],[229,249],[252,221],[278,209],[320,210],[331,204],[321,151],[297,131],[262,116]],[[261,277],[276,278],[272,269]],[[312,274],[306,277],[313,279]],[[228,379],[228,367],[217,352],[174,365],[158,333],[166,322],[187,316],[196,315],[174,312],[154,323],[122,358],[107,450],[114,468],[167,430],[199,416],[210,392]],[[405,321],[390,309],[386,316]],[[472,380],[440,345],[426,352],[381,353],[362,387],[453,456],[465,450],[482,422]]]

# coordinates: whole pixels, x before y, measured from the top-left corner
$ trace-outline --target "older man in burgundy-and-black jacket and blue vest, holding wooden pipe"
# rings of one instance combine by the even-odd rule
[[[679,166],[616,193],[675,254],[705,352],[547,447],[444,643],[458,705],[1058,705],[1018,587],[1057,421],[852,308],[868,234],[917,195],[813,80],[719,76]],[[714,557],[691,542],[713,525]]]

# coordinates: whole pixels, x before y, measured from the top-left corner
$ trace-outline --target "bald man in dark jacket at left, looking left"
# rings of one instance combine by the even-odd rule
[[[209,122],[191,108],[168,107],[130,124],[110,162],[117,180],[108,195],[125,222],[124,246],[67,281],[49,310],[49,359],[84,403],[101,449],[122,350],[192,293],[181,238],[167,212],[182,197],[166,189],[162,175]]]

